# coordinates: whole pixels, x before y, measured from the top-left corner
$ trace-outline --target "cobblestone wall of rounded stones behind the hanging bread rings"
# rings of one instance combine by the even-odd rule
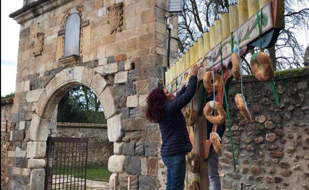
[[[237,167],[234,172],[227,127],[219,158],[222,189],[309,189],[309,69],[283,73],[275,80],[280,106],[274,103],[270,83],[258,82],[253,76],[244,79],[250,122],[235,105],[240,83],[230,85]],[[291,78],[284,79],[287,77]]]

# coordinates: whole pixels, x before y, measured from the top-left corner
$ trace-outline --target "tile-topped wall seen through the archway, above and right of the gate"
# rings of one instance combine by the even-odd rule
[[[87,165],[107,166],[108,158],[113,155],[113,143],[107,137],[107,126],[85,127],[83,123],[70,126],[57,124],[57,137],[87,137],[88,161]]]

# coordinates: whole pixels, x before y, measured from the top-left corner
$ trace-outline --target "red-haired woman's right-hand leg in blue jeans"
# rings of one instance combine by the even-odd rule
[[[173,156],[171,170],[171,190],[183,190],[184,178],[186,176],[186,155]]]

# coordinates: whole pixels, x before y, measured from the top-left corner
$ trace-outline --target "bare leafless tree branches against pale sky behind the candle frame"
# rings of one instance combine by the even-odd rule
[[[228,0],[183,0],[183,12],[179,15],[179,53],[183,54],[189,46],[214,23],[215,15],[229,7]],[[237,3],[237,1],[236,1]],[[304,48],[296,36],[301,31],[309,31],[309,0],[285,0],[285,29],[281,30],[275,46],[265,50],[269,53],[275,70],[303,66]],[[255,49],[249,51],[252,55]],[[249,67],[251,56],[245,56],[244,70],[252,74]]]

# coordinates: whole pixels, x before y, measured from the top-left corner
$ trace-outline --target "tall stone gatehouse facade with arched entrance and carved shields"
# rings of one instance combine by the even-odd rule
[[[20,24],[20,39],[8,189],[44,189],[55,108],[77,85],[91,88],[102,103],[114,144],[111,186],[118,176],[118,188],[125,189],[131,175],[132,189],[164,189],[160,132],[145,118],[145,99],[167,65],[167,8],[167,0],[38,0],[10,14]],[[171,23],[178,27],[177,18]],[[171,39],[171,61],[177,45]]]

